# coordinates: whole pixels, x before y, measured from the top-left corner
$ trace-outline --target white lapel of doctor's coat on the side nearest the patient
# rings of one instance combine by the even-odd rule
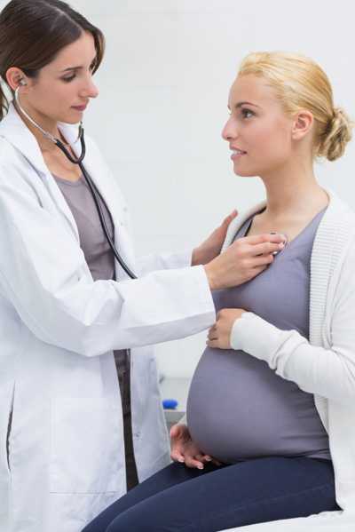
[[[81,154],[81,143],[77,140],[77,127],[67,124],[59,124],[65,139],[70,142],[75,155]],[[106,168],[106,163],[98,153],[96,146],[91,145],[90,139],[87,142],[87,151],[83,161],[84,168],[88,172],[99,194],[106,202],[106,206],[111,213],[114,221],[114,243],[119,250],[124,262],[134,271],[135,261],[134,253],[130,243],[130,234],[126,225],[125,210],[127,210],[120,190],[114,181],[114,176]],[[122,267],[115,261],[116,279],[122,280],[128,278],[128,275],[122,270]]]

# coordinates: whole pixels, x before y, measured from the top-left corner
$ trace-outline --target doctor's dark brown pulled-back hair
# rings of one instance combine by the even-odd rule
[[[18,67],[28,77],[36,78],[41,68],[83,32],[94,38],[96,72],[104,55],[105,37],[68,4],[60,0],[12,0],[4,7],[0,12],[0,120],[9,106],[4,93],[7,70]]]

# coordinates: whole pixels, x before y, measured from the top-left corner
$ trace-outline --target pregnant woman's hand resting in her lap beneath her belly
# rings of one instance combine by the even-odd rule
[[[177,424],[170,428],[171,460],[187,467],[203,469],[204,464],[221,465],[215,458],[205,455],[193,442],[186,425]]]

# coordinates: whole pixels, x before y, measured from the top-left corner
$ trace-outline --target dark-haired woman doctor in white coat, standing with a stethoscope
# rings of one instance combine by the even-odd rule
[[[0,14],[4,83],[72,155],[70,124],[98,95],[103,52],[99,29],[58,0],[12,0]],[[0,529],[79,532],[125,493],[126,469],[130,487],[169,463],[145,345],[212,325],[210,290],[262,272],[282,237],[217,256],[233,214],[192,255],[136,260],[127,207],[89,140],[85,170],[131,281],[78,166],[0,98]]]

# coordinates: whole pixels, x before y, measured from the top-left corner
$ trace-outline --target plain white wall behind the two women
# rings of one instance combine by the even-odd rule
[[[3,2],[3,4],[5,4]],[[234,176],[220,137],[239,62],[256,50],[303,52],[329,75],[336,105],[355,117],[354,24],[349,0],[73,0],[106,34],[100,96],[86,130],[115,171],[137,250],[199,242],[235,206],[263,197],[259,179]],[[355,208],[355,142],[319,181]],[[189,376],[205,334],[159,345],[160,368]]]

